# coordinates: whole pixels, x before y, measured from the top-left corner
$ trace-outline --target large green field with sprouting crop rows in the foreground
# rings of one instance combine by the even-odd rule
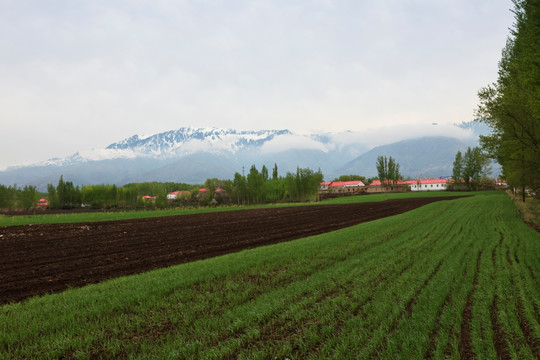
[[[503,192],[0,307],[18,358],[540,356],[540,235]]]

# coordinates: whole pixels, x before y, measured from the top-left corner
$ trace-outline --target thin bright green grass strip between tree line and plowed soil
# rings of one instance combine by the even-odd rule
[[[242,209],[255,209],[261,207],[276,207],[276,206],[303,206],[317,204],[347,204],[354,202],[368,201],[384,201],[387,199],[403,199],[407,197],[430,197],[430,196],[459,196],[470,195],[470,193],[457,192],[425,192],[425,193],[392,193],[392,194],[372,194],[363,196],[349,196],[344,198],[322,201],[320,203],[310,204],[273,204],[259,206],[220,206],[220,207],[204,207],[191,209],[167,209],[167,210],[139,210],[139,211],[113,211],[113,212],[88,212],[88,213],[67,213],[67,214],[38,214],[38,215],[16,215],[6,216],[0,215],[0,226],[14,225],[38,225],[38,224],[59,224],[59,223],[81,223],[81,222],[97,222],[97,221],[114,221],[139,219],[147,217],[173,216],[173,215],[188,215],[200,214],[216,211],[230,211]]]

